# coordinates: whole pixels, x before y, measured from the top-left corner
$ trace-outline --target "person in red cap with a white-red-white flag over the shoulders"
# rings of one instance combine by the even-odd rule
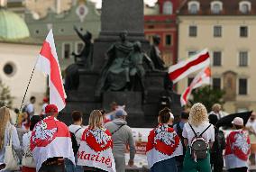
[[[75,164],[69,128],[57,120],[56,105],[47,105],[45,113],[47,117],[34,126],[30,140],[36,171],[64,172],[64,158],[69,158]]]

